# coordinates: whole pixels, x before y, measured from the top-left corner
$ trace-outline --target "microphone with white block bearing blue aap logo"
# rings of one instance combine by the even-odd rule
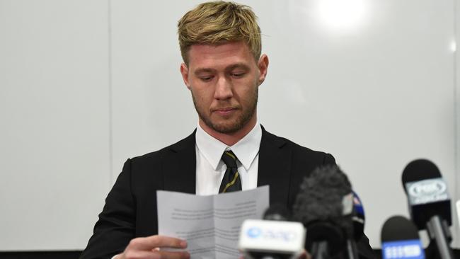
[[[250,259],[294,259],[304,251],[305,228],[288,221],[289,211],[272,205],[264,219],[246,219],[241,226],[238,248]]]

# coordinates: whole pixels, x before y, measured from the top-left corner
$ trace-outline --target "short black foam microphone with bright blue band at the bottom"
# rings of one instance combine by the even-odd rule
[[[383,259],[425,259],[417,227],[402,216],[386,219],[381,228]]]

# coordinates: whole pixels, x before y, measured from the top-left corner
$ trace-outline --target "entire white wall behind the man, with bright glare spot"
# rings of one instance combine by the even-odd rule
[[[270,58],[260,122],[335,156],[374,247],[408,216],[409,161],[460,198],[459,1],[241,1]],[[192,132],[176,23],[197,3],[0,0],[0,251],[84,248],[122,163]]]

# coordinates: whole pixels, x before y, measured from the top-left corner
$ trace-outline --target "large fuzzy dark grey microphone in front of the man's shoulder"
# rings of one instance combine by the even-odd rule
[[[304,178],[293,215],[306,226],[305,247],[313,258],[333,258],[345,251],[348,258],[357,258],[352,211],[351,184],[338,166],[316,168]]]

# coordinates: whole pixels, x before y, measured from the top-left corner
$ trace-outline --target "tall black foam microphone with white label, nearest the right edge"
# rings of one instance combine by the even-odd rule
[[[449,247],[452,241],[450,199],[439,169],[426,159],[414,160],[404,168],[402,180],[415,225],[418,229],[427,229],[440,258],[454,258]]]

